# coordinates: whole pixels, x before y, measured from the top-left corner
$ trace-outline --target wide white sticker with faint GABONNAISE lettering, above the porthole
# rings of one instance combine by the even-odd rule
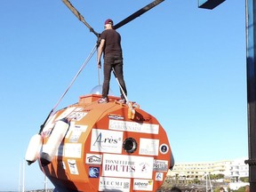
[[[108,129],[123,132],[143,132],[149,134],[158,134],[159,124],[144,124],[110,119]]]

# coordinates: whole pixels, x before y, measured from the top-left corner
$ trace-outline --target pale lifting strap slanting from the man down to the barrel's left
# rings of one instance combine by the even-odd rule
[[[93,54],[96,52],[97,50],[97,44],[94,45],[94,47],[92,48],[92,52],[90,52],[89,56],[86,58],[86,60],[84,60],[83,65],[81,66],[81,68],[78,70],[78,72],[76,73],[76,76],[74,76],[74,78],[72,79],[72,81],[70,82],[70,84],[68,85],[68,88],[66,89],[65,92],[63,92],[63,94],[61,95],[60,99],[57,101],[57,103],[55,104],[55,106],[52,108],[52,110],[50,111],[49,115],[46,117],[44,124],[42,124],[40,126],[40,131],[39,134],[41,134],[41,132],[44,129],[44,125],[46,124],[46,122],[48,121],[49,117],[52,116],[53,111],[59,106],[60,101],[64,98],[64,96],[66,95],[66,93],[68,92],[68,90],[70,89],[70,87],[74,84],[74,82],[76,81],[77,76],[79,76],[79,74],[82,72],[82,70],[84,69],[84,67],[87,65],[87,63],[91,60]]]

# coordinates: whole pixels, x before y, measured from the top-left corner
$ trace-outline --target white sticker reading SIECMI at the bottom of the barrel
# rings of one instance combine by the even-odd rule
[[[130,192],[130,179],[100,177],[99,191]]]

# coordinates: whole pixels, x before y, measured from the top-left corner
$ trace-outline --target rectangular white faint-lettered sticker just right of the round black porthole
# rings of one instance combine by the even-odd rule
[[[159,140],[140,138],[140,155],[158,156]]]

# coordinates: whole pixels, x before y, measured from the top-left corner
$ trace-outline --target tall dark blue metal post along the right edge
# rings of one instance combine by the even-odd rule
[[[247,118],[250,191],[256,191],[256,63],[255,63],[255,3],[245,0],[246,10],[246,72],[247,72]]]

